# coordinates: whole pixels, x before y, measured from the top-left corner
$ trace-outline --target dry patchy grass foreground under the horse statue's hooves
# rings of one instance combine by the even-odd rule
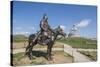
[[[40,54],[41,53],[41,54]],[[72,63],[73,57],[62,52],[62,51],[55,51],[52,52],[54,55],[52,61],[48,61],[45,57],[43,57],[43,53],[45,54],[45,51],[43,52],[35,52],[33,55],[33,59],[29,60],[27,56],[24,56],[24,53],[17,53],[13,55],[13,65],[19,66],[19,65],[44,65],[44,64],[61,64],[61,63]],[[39,56],[39,55],[41,56]]]

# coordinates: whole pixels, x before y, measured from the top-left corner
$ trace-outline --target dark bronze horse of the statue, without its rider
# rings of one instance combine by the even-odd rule
[[[51,51],[52,51],[52,47],[54,45],[54,42],[57,39],[57,36],[58,35],[61,35],[63,37],[66,36],[66,34],[63,32],[62,28],[60,28],[60,26],[55,28],[53,31],[54,31],[54,33],[52,33],[51,38],[45,39],[44,43],[41,42],[41,39],[40,39],[41,35],[40,34],[39,35],[37,34],[38,37],[36,36],[36,34],[31,34],[29,36],[29,38],[28,38],[28,45],[26,47],[26,55],[28,54],[30,59],[32,59],[32,49],[33,49],[33,46],[35,46],[36,44],[40,44],[40,45],[47,45],[47,60],[52,60]]]

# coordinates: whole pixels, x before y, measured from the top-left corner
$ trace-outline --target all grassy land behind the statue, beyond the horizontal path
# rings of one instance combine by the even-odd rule
[[[27,43],[25,43],[25,40],[27,40],[27,37],[24,35],[13,35],[12,45],[13,48],[20,48],[25,47]],[[97,49],[97,41],[86,39],[82,37],[74,37],[74,38],[64,38],[62,40],[56,40],[57,45],[54,45],[54,47],[63,47],[60,42],[66,43],[71,45],[73,48],[83,48],[83,49]],[[46,47],[46,46],[40,46],[36,45],[37,47]]]

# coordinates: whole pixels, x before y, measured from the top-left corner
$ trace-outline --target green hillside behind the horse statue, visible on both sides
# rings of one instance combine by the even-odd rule
[[[25,35],[12,35],[12,42],[25,42],[27,38],[28,37]],[[82,37],[64,38],[56,41],[69,44],[73,48],[97,49],[97,40],[91,40]]]

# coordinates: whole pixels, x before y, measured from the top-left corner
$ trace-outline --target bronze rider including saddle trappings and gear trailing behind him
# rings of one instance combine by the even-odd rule
[[[40,42],[46,43],[49,39],[52,39],[53,30],[48,24],[48,17],[46,14],[43,15],[42,20],[40,21],[40,31],[37,32],[36,37],[33,42],[38,38]]]

